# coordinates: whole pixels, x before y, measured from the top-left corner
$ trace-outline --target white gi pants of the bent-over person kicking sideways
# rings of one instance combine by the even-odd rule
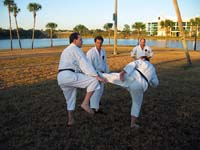
[[[142,78],[135,78],[134,76],[126,76],[125,81],[121,81],[119,78],[119,73],[103,73],[103,77],[108,80],[108,82],[125,87],[132,99],[132,106],[131,106],[131,116],[138,117],[140,114],[141,105],[143,102],[143,94],[144,94],[144,86],[146,84],[144,79]],[[144,81],[144,82],[143,82]]]

